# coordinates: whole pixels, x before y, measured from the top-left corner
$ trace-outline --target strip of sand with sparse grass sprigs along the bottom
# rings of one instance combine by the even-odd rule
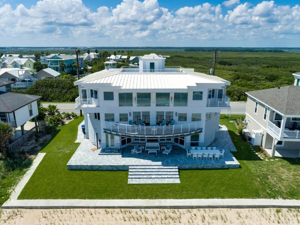
[[[0,224],[300,224],[299,209],[14,209]]]

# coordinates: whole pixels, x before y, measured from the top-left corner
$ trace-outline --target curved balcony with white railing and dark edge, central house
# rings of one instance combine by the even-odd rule
[[[104,132],[131,138],[184,137],[202,132],[202,121],[172,126],[136,126],[104,121]]]

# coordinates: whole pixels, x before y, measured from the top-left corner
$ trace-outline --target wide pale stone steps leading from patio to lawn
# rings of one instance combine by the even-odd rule
[[[128,184],[178,184],[177,166],[129,166]]]

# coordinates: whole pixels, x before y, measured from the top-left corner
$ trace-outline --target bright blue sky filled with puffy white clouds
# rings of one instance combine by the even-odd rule
[[[297,4],[0,0],[1,46],[299,47]]]

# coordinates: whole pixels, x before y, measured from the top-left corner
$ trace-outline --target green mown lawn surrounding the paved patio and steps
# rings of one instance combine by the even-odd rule
[[[66,164],[82,118],[63,126],[41,151],[44,159],[19,199],[182,199],[283,198],[300,199],[299,160],[265,161],[236,134],[234,120],[221,116],[228,127],[241,164],[239,169],[180,170],[181,184],[127,184],[128,171],[72,171]],[[271,159],[271,158],[269,158]]]

